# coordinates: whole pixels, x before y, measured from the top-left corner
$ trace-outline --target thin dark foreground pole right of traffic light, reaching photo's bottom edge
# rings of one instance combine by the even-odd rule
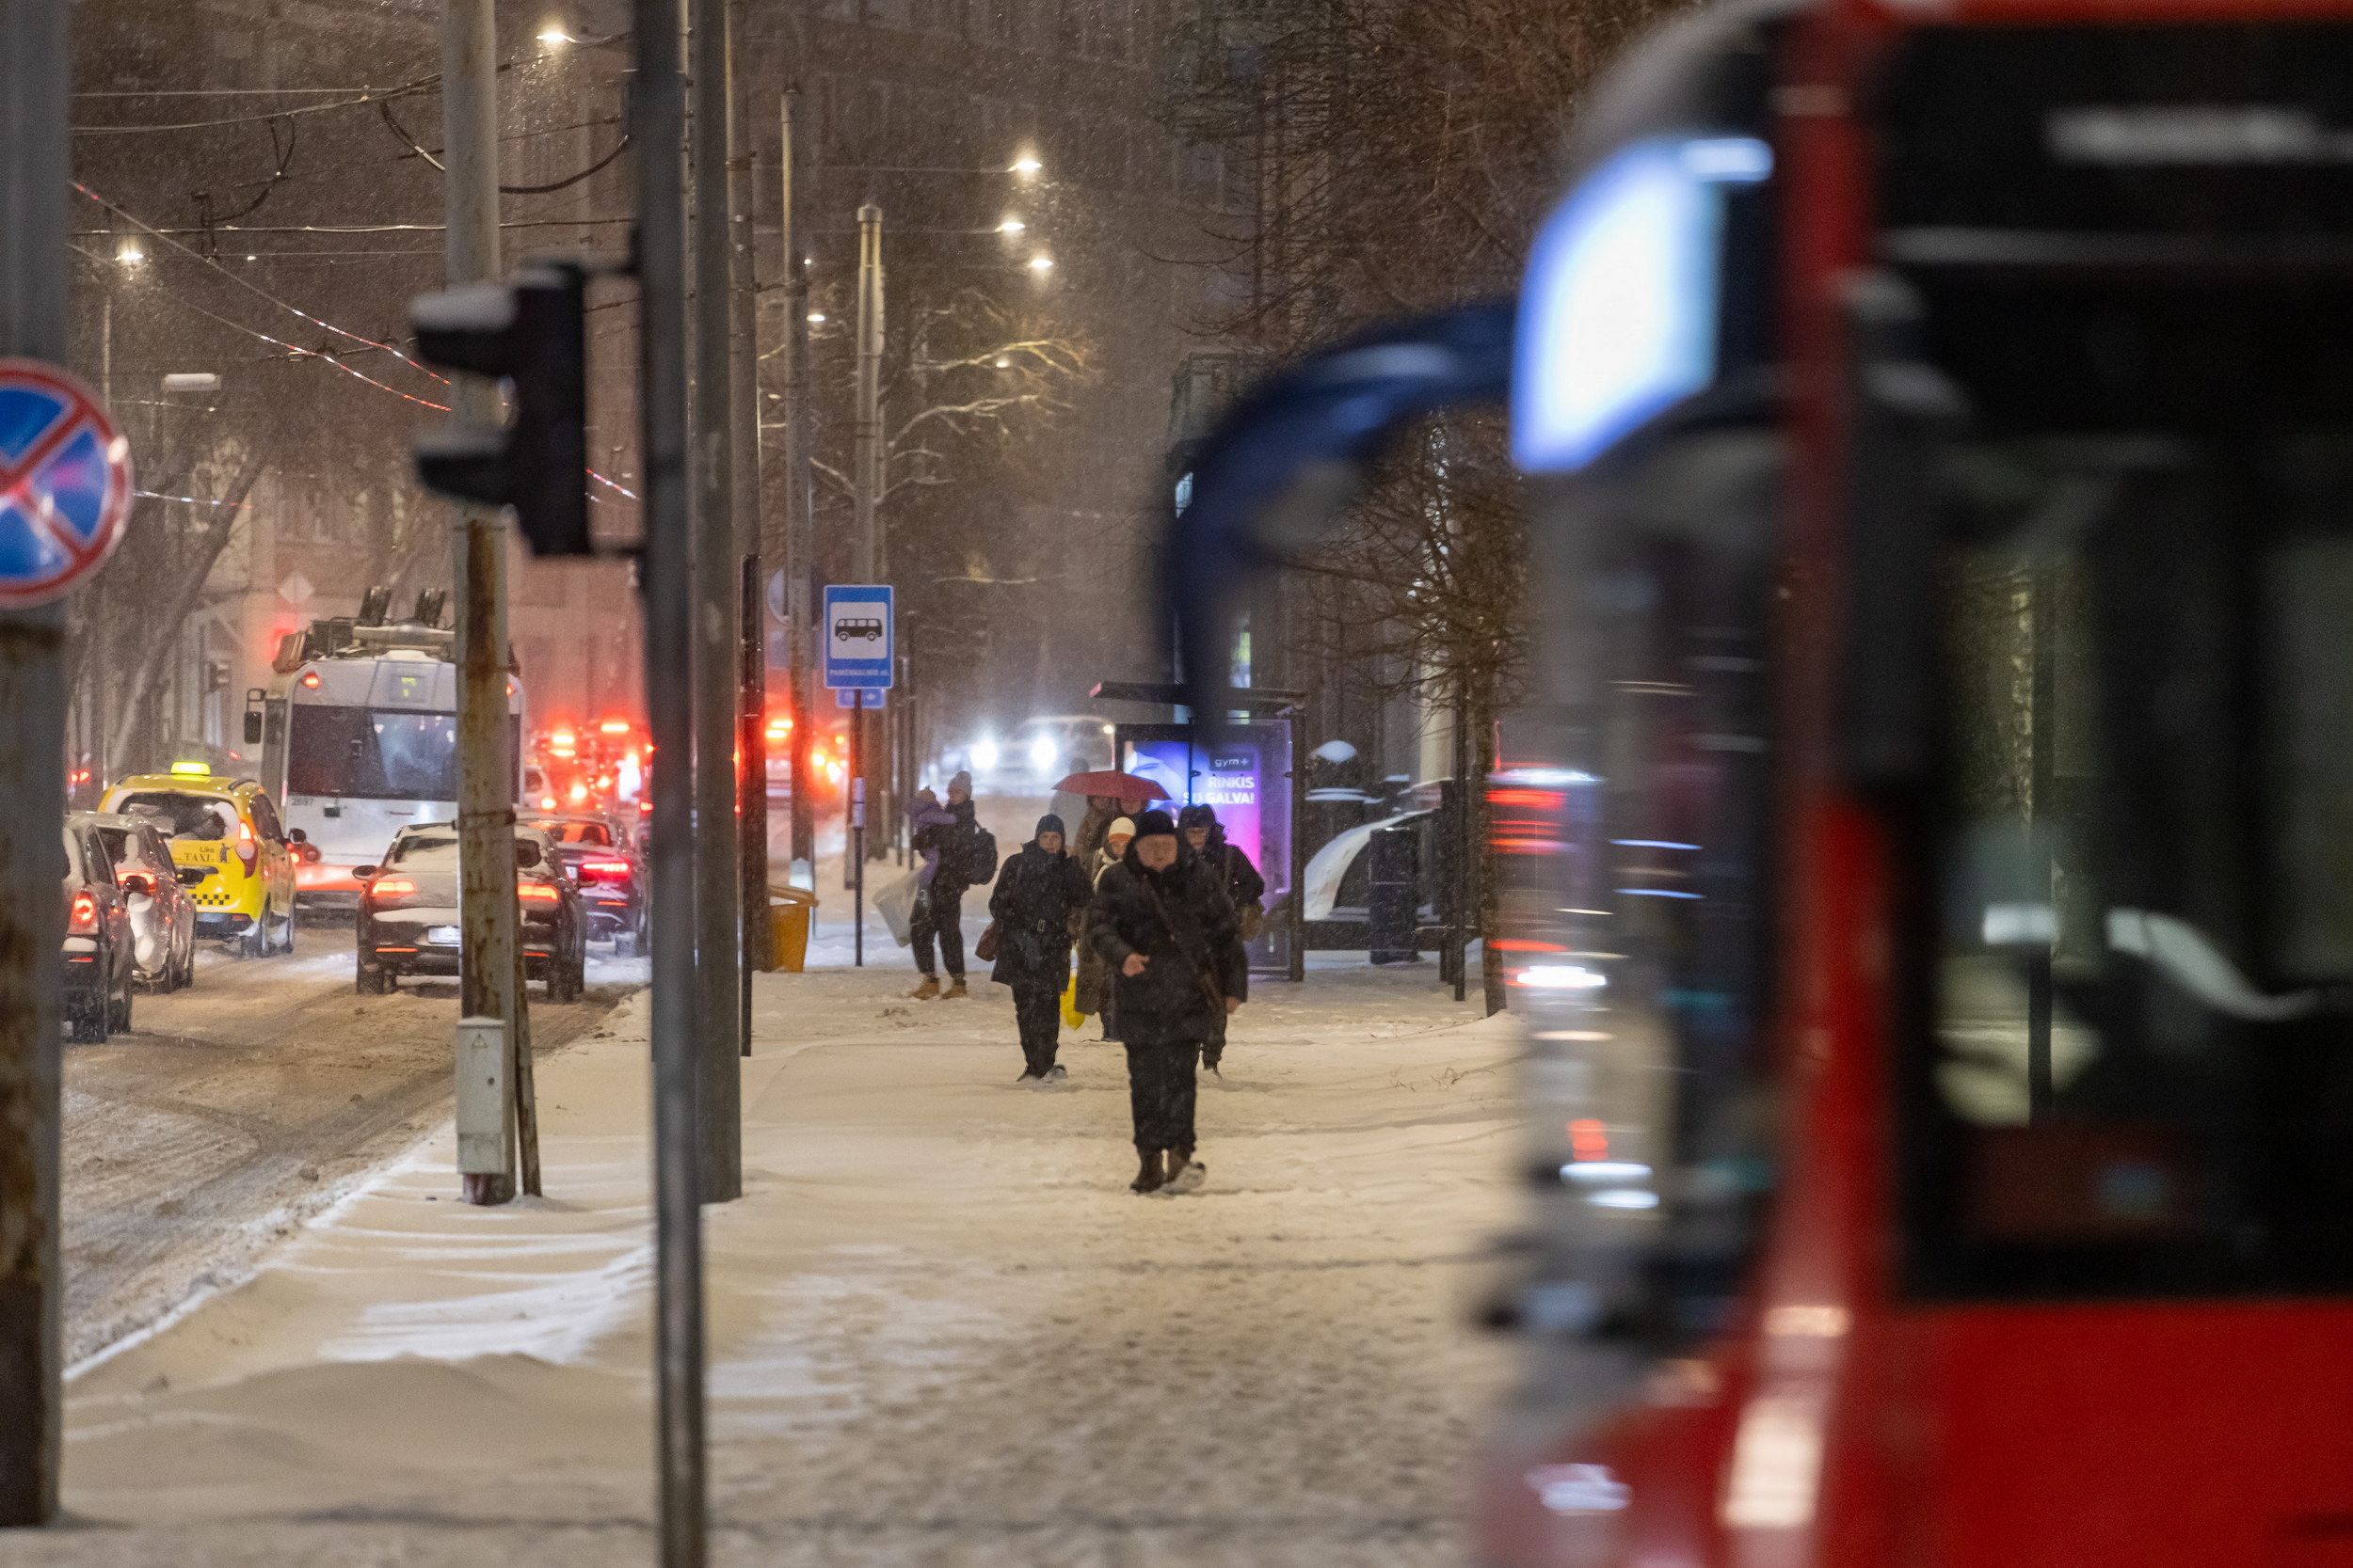
[[[661,1568],[704,1568],[704,1211],[694,1157],[694,581],[687,550],[687,85],[680,0],[635,0],[645,710],[654,741],[654,1460]]]

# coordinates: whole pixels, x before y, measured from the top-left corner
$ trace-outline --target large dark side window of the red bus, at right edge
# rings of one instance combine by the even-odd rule
[[[1955,463],[1913,1272],[2353,1284],[2353,428]]]

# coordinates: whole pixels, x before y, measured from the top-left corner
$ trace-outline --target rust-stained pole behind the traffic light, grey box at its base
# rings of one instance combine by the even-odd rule
[[[445,256],[449,287],[499,277],[499,26],[494,0],[445,0],[442,146],[447,176]],[[449,376],[461,421],[499,423],[499,386]],[[459,1095],[459,1173],[468,1204],[515,1197],[515,1053],[522,1041],[522,985],[515,933],[515,757],[508,724],[506,517],[468,505],[452,529],[456,574],[456,853],[459,853],[459,1016],[504,1025],[487,1065],[501,1070],[489,1093]],[[461,1056],[461,1070],[468,1058]],[[475,1060],[485,1060],[475,1056]],[[487,1117],[496,1114],[496,1124]],[[532,1164],[536,1166],[536,1152]]]

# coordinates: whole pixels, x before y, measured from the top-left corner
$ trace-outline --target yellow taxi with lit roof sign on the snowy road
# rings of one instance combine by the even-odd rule
[[[202,762],[174,762],[169,773],[134,773],[106,790],[101,811],[158,818],[172,863],[198,870],[188,889],[195,933],[233,943],[256,959],[294,952],[294,860],[278,806],[252,778],[224,778]]]

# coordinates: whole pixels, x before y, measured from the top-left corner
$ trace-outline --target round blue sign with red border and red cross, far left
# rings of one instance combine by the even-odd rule
[[[122,543],[132,451],[80,381],[0,360],[0,609],[47,604]]]

